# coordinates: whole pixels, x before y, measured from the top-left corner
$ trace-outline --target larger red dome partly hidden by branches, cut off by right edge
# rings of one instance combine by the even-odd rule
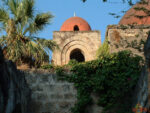
[[[138,11],[135,10],[134,8],[146,8],[150,10],[150,0],[146,0],[148,4],[140,4],[137,3],[135,4],[131,9],[129,9],[126,14],[123,16],[123,18],[120,20],[119,24],[144,24],[144,25],[149,25],[150,24],[150,16],[144,17],[144,18],[137,18],[136,16],[146,16],[147,14],[144,11]]]

